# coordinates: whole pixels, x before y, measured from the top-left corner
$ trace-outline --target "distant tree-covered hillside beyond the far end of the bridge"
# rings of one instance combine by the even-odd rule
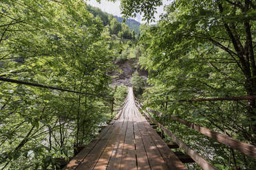
[[[136,42],[140,33],[140,23],[134,19],[127,19],[123,23],[122,17],[113,16],[90,5],[87,10],[94,14],[94,17],[99,16],[103,25],[110,29],[110,48],[114,51],[114,64],[118,68],[107,73],[112,77],[111,86],[131,86],[131,78],[136,71],[140,78],[146,81],[148,72],[140,70],[137,63],[140,57],[140,47],[136,45]],[[135,35],[131,30],[134,30]]]

